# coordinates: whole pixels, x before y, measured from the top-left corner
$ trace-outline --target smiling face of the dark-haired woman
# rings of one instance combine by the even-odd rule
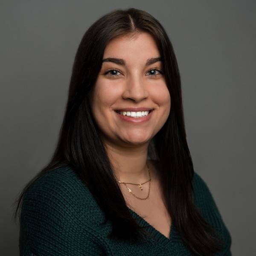
[[[105,48],[90,100],[108,144],[127,147],[149,143],[166,122],[171,98],[161,73],[162,62],[153,58],[160,58],[160,53],[145,32],[135,38],[115,38]],[[120,110],[124,112],[116,112]],[[147,110],[152,111],[144,112]]]

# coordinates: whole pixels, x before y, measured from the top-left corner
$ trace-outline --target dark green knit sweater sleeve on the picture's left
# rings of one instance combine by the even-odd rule
[[[25,192],[20,213],[20,256],[102,255],[100,236],[85,221],[75,186],[41,177]]]

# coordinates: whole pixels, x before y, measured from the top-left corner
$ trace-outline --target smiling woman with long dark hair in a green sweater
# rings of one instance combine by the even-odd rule
[[[85,33],[57,148],[18,209],[20,255],[231,255],[193,170],[172,44],[147,12]]]

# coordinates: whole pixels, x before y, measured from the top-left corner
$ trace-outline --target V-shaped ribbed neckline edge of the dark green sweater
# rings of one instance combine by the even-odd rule
[[[160,245],[167,245],[169,243],[175,242],[175,241],[181,241],[180,236],[177,234],[175,230],[174,223],[172,221],[171,227],[170,227],[170,233],[169,238],[167,238],[163,233],[161,233],[159,230],[157,230],[155,227],[153,227],[151,224],[148,223],[144,218],[142,218],[137,212],[134,212],[130,207],[128,207],[128,210],[131,212],[131,214],[137,218],[138,224],[142,224],[143,226],[148,226],[148,232],[150,232],[152,235],[154,235],[155,240]]]

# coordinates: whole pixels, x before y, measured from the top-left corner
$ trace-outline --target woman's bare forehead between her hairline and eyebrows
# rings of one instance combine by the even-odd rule
[[[122,58],[129,62],[145,62],[149,58],[160,57],[154,38],[147,32],[140,32],[134,37],[124,35],[111,40],[105,48],[103,59]]]

